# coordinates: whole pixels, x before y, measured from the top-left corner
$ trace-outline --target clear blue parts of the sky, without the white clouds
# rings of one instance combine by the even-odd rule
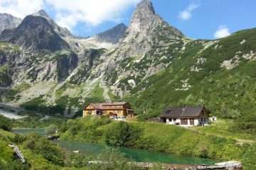
[[[229,28],[230,33],[247,28],[256,28],[255,0],[151,0],[155,11],[171,26],[181,30],[189,38],[215,39],[219,27]],[[190,4],[198,4],[191,11],[191,18],[183,20],[178,17]],[[127,9],[122,22],[129,25],[135,6]],[[112,28],[117,23],[103,22],[95,28],[83,31],[82,24],[75,27],[77,35],[93,35]]]

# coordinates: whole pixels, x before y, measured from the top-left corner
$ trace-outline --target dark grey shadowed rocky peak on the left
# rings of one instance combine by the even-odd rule
[[[6,32],[1,33],[0,40],[6,40]],[[12,31],[8,41],[27,50],[68,50],[67,42],[55,33],[46,18],[41,16],[26,16],[21,24]]]

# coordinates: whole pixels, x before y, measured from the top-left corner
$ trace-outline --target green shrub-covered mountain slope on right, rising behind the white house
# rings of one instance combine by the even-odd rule
[[[164,106],[186,103],[206,104],[215,115],[236,117],[247,107],[246,98],[250,97],[253,101],[256,98],[254,93],[248,96],[254,91],[256,62],[244,60],[240,54],[238,67],[228,70],[220,68],[220,64],[235,57],[238,51],[247,54],[255,50],[255,35],[256,29],[242,30],[220,39],[201,53],[198,53],[202,49],[201,41],[189,42],[179,60],[175,60],[160,74],[142,81],[132,89],[132,95],[125,96],[124,100],[130,101],[137,113],[146,110],[157,115]],[[242,40],[246,40],[243,45],[240,44]],[[220,48],[215,49],[216,45]],[[206,62],[199,64],[202,68],[199,72],[191,72],[198,58],[205,58]],[[192,87],[187,91],[177,91],[181,88],[181,81],[186,79]],[[139,93],[142,89],[145,90]]]

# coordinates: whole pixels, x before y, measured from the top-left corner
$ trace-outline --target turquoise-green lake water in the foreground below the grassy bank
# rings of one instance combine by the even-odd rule
[[[39,132],[41,134],[45,134],[45,130],[43,129],[14,129],[14,132],[24,134],[26,132]],[[105,145],[97,145],[97,144],[90,144],[86,142],[66,142],[55,140],[53,141],[67,149],[69,151],[79,150],[81,154],[85,154],[91,157],[97,157],[102,150],[105,149]],[[215,164],[216,160],[213,159],[202,159],[198,157],[183,157],[177,154],[168,154],[164,152],[154,152],[146,149],[134,149],[129,147],[119,147],[119,152],[122,152],[126,155],[126,157],[131,157],[132,159],[136,160],[137,162],[159,162],[165,164],[191,164],[191,165],[198,165],[198,164]]]

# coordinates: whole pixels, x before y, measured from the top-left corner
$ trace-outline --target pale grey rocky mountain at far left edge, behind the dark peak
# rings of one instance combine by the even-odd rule
[[[0,34],[4,29],[16,28],[21,21],[21,18],[16,18],[11,14],[0,13]]]

